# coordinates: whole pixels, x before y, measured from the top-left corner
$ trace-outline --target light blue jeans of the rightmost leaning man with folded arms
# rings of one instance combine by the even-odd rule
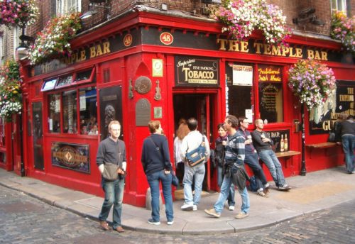
[[[278,157],[276,157],[273,150],[261,150],[259,152],[259,157],[270,170],[271,176],[273,177],[273,181],[276,184],[276,187],[282,187],[285,182],[285,177],[283,176],[283,167],[278,161]]]

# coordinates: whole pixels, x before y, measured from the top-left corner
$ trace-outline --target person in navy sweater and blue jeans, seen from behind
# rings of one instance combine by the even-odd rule
[[[163,187],[165,200],[165,214],[168,225],[174,223],[173,196],[171,194],[171,182],[173,175],[170,163],[168,140],[162,135],[163,128],[160,121],[149,121],[148,129],[151,135],[143,141],[141,162],[146,173],[149,187],[151,187],[152,213],[148,223],[160,225],[159,184]]]

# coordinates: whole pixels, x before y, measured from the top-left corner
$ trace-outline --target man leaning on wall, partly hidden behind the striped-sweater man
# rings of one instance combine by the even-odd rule
[[[256,193],[259,196],[268,197],[269,196],[269,184],[266,180],[266,176],[263,172],[263,168],[259,164],[258,153],[256,153],[255,148],[253,147],[253,140],[251,138],[251,133],[248,131],[249,122],[245,116],[240,116],[239,120],[239,129],[238,131],[244,135],[245,138],[245,159],[244,163],[251,167],[253,174],[256,179]]]

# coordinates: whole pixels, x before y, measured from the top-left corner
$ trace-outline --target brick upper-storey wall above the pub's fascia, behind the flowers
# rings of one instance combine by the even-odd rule
[[[56,0],[41,0],[37,1],[40,9],[41,18],[33,26],[29,26],[26,33],[31,36],[35,36],[35,33],[42,30],[45,24],[50,20],[51,16],[55,14],[55,1]],[[330,1],[327,0],[266,0],[268,4],[275,4],[283,9],[283,14],[287,16],[287,23],[291,28],[295,30],[305,30],[313,33],[321,33],[329,35],[329,24],[331,19]],[[351,10],[355,9],[355,0],[350,0],[349,4]],[[97,9],[99,13],[84,20],[83,30],[92,28],[99,23],[107,21],[107,16],[119,15],[123,11],[130,9],[134,5],[148,5],[160,9],[161,4],[167,4],[169,10],[187,11],[193,13],[196,10],[197,15],[201,13],[201,8],[204,4],[197,0],[111,0],[111,11],[107,9]],[[88,11],[89,0],[82,0],[82,13]],[[300,23],[295,25],[293,18],[298,17],[298,13],[302,9],[315,8],[316,16],[320,20],[324,21],[324,26],[315,26],[312,23]],[[354,13],[354,11],[353,11]]]

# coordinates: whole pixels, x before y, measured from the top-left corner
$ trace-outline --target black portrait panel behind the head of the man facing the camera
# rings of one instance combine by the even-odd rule
[[[122,124],[122,87],[107,87],[99,90],[100,97],[100,125],[101,140],[109,135],[109,123],[119,121]],[[123,140],[123,130],[121,130],[120,139]]]

